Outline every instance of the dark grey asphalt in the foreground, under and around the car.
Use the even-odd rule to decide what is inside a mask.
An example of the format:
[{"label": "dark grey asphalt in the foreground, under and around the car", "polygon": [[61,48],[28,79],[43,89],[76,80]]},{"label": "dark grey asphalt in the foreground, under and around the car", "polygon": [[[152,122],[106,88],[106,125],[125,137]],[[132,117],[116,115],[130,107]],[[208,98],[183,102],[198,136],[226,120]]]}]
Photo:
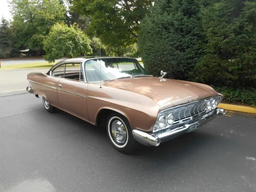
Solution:
[{"label": "dark grey asphalt in the foreground, under and around the car", "polygon": [[0,98],[0,192],[255,192],[256,120],[221,116],[134,155],[42,98]]}]

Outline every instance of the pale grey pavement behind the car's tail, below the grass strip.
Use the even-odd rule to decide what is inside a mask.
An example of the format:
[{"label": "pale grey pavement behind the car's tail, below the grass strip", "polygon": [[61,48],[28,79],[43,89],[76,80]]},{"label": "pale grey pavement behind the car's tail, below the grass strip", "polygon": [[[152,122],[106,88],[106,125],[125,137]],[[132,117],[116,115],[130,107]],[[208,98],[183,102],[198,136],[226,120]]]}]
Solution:
[{"label": "pale grey pavement behind the car's tail, below the grass strip", "polygon": [[28,81],[26,75],[30,72],[47,72],[49,69],[17,69],[0,70],[0,96],[10,95],[10,92],[26,93]]}]

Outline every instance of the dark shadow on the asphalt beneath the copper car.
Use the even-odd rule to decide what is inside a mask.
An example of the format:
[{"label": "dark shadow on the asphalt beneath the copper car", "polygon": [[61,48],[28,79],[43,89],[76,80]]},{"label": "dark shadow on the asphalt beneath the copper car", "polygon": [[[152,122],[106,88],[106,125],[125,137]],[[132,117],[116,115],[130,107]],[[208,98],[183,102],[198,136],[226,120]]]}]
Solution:
[{"label": "dark shadow on the asphalt beneath the copper car", "polygon": [[[81,134],[85,133],[86,135],[90,135],[91,137],[96,138],[99,143],[102,142],[102,144],[107,144],[109,148],[112,148],[112,145],[108,140],[106,128],[94,126],[61,110],[58,110],[58,113],[62,116],[61,118],[72,121],[71,124],[75,125],[73,128],[79,129]],[[199,128],[199,130],[183,134],[168,142],[162,143],[158,147],[146,147],[141,145],[134,153],[129,154],[129,156],[132,156],[133,158],[155,158],[155,160],[161,157],[166,159],[166,157],[169,156],[170,160],[174,160],[174,158],[179,159],[184,158],[184,156],[188,156],[189,154],[194,154],[195,151],[198,151],[202,146],[210,146],[209,143],[214,139],[216,139],[214,135],[209,134],[209,132],[204,132]],[[117,152],[114,148],[112,151],[122,156],[126,156],[125,154]]]}]

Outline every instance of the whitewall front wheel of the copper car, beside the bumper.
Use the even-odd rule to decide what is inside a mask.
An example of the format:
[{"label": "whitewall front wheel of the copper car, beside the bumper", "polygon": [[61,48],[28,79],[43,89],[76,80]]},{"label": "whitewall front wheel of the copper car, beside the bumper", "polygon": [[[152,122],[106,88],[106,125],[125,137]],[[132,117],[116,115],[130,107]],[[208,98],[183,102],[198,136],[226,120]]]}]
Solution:
[{"label": "whitewall front wheel of the copper car, beside the bumper", "polygon": [[130,124],[124,116],[118,113],[110,114],[106,128],[110,142],[119,152],[128,154],[137,148],[138,143],[133,138]]}]

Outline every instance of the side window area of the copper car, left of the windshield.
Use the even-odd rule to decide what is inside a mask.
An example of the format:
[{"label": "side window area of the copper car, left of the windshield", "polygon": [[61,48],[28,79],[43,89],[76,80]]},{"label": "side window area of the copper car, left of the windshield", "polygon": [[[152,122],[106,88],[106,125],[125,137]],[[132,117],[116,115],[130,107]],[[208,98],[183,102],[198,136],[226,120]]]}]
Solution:
[{"label": "side window area of the copper car, left of the windshield", "polygon": [[60,65],[52,71],[52,76],[84,81],[82,64],[80,63],[67,63]]}]

